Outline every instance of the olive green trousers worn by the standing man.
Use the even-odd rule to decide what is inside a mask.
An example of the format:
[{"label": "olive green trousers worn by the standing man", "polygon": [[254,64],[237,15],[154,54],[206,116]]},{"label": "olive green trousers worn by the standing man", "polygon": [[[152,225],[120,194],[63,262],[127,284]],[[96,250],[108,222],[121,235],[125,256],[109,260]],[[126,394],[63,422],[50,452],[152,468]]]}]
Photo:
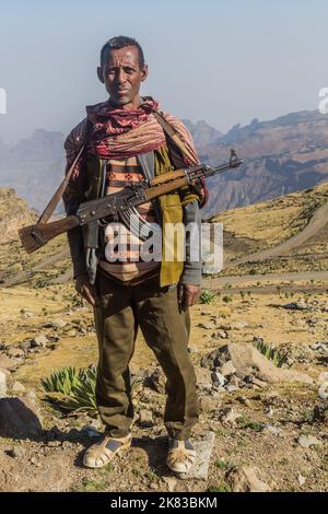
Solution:
[{"label": "olive green trousers worn by the standing man", "polygon": [[129,362],[140,327],[166,376],[164,423],[168,435],[188,439],[198,421],[198,400],[188,354],[190,317],[179,309],[177,287],[160,288],[159,277],[124,285],[99,272],[94,318],[99,350],[96,401],[106,433],[124,437],[130,431]]}]

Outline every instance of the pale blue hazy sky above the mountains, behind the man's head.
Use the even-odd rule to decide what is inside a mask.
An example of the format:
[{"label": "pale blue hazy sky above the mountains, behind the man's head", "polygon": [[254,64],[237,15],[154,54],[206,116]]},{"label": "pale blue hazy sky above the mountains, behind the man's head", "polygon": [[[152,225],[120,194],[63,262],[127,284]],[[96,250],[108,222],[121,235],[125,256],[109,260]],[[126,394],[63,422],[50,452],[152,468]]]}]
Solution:
[{"label": "pale blue hazy sky above the mountains, behind the man's head", "polygon": [[[136,37],[142,93],[222,131],[318,106],[328,86],[327,0],[0,0],[0,139],[69,131],[106,98],[102,45]],[[1,110],[1,108],[0,108]]]}]

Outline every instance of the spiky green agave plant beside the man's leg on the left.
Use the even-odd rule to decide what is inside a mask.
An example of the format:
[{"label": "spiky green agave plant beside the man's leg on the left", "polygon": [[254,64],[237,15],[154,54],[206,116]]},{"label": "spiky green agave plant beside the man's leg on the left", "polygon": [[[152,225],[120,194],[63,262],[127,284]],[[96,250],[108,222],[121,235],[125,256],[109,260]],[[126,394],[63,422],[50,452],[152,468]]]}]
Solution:
[{"label": "spiky green agave plant beside the man's leg on the left", "polygon": [[97,411],[95,400],[96,367],[63,367],[40,381],[48,393],[46,400],[61,412]]}]

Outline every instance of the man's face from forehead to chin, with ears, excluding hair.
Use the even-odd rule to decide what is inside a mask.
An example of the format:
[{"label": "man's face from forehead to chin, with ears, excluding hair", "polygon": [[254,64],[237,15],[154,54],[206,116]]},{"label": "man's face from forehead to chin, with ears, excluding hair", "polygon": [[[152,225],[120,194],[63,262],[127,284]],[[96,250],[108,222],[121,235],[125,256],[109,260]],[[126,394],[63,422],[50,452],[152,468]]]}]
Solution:
[{"label": "man's face from forehead to chin, with ears, excluding hair", "polygon": [[147,79],[148,67],[140,69],[136,46],[110,50],[97,69],[98,79],[105,84],[110,102],[118,107],[138,107],[140,84]]}]

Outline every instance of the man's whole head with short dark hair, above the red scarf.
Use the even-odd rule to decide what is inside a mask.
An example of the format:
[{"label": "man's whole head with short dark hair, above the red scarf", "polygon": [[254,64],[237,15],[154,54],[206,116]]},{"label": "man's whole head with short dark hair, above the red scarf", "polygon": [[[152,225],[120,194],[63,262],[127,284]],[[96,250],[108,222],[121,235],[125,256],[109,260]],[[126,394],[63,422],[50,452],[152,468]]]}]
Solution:
[{"label": "man's whole head with short dark hair, above the red scarf", "polygon": [[148,67],[141,46],[131,37],[113,37],[102,48],[99,81],[105,84],[110,102],[117,107],[136,108],[140,103],[140,84]]}]

